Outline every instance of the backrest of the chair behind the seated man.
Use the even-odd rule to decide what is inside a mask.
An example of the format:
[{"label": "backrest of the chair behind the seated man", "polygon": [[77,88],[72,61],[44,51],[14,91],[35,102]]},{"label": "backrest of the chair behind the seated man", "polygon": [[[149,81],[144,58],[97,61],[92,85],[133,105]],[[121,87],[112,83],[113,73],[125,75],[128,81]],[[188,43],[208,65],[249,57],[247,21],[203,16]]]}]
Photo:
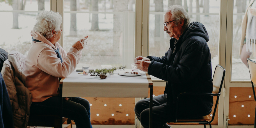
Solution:
[{"label": "backrest of the chair behind the seated man", "polygon": [[221,65],[216,65],[212,78],[212,90],[214,93],[220,93],[224,81],[226,70]]}]

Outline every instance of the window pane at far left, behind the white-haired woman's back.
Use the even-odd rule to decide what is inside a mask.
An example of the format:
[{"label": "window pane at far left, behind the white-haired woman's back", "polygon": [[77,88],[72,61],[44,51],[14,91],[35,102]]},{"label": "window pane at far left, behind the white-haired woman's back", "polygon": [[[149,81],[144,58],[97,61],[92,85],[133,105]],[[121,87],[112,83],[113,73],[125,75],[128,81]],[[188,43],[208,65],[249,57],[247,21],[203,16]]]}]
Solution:
[{"label": "window pane at far left, behind the white-haired woman's back", "polygon": [[[13,0],[12,2],[12,5],[8,1],[0,2],[0,17],[2,17],[0,48],[7,52],[15,50],[26,55],[31,46],[30,31],[35,24],[38,10],[50,10],[50,1],[23,1],[22,3],[19,0]],[[38,2],[41,3],[38,4]]]}]

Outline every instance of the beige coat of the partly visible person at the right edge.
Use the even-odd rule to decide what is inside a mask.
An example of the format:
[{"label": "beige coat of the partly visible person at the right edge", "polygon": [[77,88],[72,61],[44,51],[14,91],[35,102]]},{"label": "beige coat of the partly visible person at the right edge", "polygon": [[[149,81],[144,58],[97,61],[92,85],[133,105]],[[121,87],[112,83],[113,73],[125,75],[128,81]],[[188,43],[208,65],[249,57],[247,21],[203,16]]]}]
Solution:
[{"label": "beige coat of the partly visible person at the right edge", "polygon": [[[249,5],[248,5],[248,8],[253,4],[253,0],[250,1]],[[241,42],[240,42],[240,51],[239,51],[239,55],[241,55],[241,51],[242,51],[242,48],[243,48],[243,42],[244,42],[244,39],[245,39],[245,35],[246,35],[246,26],[247,26],[247,11],[248,11],[248,8],[246,9],[245,11],[245,15],[243,17],[243,21],[242,21],[242,37],[241,37]],[[253,13],[251,13],[253,16],[256,16],[256,8],[254,8],[253,10]],[[253,50],[253,56],[256,56],[256,52]]]}]

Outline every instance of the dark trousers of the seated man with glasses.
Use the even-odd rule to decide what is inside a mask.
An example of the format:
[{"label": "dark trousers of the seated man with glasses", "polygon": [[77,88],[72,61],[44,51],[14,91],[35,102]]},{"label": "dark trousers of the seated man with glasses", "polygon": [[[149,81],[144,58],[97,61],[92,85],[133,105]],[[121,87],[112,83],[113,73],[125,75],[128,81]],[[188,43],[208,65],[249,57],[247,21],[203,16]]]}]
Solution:
[{"label": "dark trousers of the seated man with glasses", "polygon": [[[167,122],[166,94],[153,97],[153,128],[162,128]],[[134,112],[144,128],[149,128],[150,98],[142,99],[135,105]]]}]

